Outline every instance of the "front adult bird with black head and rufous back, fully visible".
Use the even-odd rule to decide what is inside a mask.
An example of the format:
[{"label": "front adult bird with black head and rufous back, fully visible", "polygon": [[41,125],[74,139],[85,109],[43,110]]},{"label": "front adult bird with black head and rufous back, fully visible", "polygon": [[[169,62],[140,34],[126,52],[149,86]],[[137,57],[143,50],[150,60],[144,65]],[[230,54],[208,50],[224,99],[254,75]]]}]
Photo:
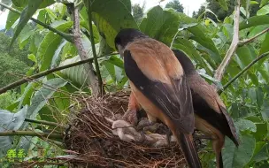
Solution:
[{"label": "front adult bird with black head and rufous back, fully visible", "polygon": [[158,118],[165,123],[177,138],[188,166],[201,167],[192,137],[195,120],[191,92],[173,51],[132,28],[117,34],[115,47],[124,57],[132,93],[150,122]]}]

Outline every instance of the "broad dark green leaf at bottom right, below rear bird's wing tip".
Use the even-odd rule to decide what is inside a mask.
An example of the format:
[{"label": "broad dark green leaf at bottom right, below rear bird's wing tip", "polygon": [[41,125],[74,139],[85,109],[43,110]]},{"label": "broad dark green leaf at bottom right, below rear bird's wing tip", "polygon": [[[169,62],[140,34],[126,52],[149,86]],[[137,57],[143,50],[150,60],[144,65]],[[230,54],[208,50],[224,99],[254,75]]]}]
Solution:
[{"label": "broad dark green leaf at bottom right, below rear bird's wing tip", "polygon": [[236,148],[234,142],[226,137],[225,149],[222,150],[224,167],[242,168],[250,162],[255,150],[255,138],[249,134],[243,134],[240,140],[241,143]]}]

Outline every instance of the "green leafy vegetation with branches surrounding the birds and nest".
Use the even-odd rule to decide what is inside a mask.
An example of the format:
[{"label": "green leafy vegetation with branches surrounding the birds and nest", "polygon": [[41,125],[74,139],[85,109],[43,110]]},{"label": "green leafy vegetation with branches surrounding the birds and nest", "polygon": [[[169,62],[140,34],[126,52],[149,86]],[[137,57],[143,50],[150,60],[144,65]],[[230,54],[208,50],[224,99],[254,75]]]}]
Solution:
[{"label": "green leafy vegetation with branches surrounding the birds and nest", "polygon": [[[25,159],[37,163],[65,155],[61,138],[41,134],[68,124],[70,109],[78,105],[73,96],[127,87],[114,37],[120,28],[134,27],[186,52],[219,88],[242,142],[237,149],[226,139],[225,167],[269,166],[268,0],[207,0],[194,18],[177,1],[150,11],[129,0],[72,2],[1,1],[2,10],[10,10],[5,31],[12,31],[12,39],[0,34],[0,157],[9,149],[25,149]],[[81,60],[84,65],[72,65]],[[64,65],[69,68],[58,71]],[[223,76],[215,74],[218,67],[227,67]],[[200,157],[205,167],[214,167],[210,143]]]}]

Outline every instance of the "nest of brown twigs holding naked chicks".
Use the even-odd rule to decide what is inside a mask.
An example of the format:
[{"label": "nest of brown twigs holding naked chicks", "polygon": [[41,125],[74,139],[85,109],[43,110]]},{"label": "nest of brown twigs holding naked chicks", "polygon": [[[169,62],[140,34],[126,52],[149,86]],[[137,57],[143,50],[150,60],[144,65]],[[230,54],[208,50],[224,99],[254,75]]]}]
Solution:
[{"label": "nest of brown twigs holding naked chicks", "polygon": [[[121,91],[83,99],[83,110],[73,117],[65,135],[65,146],[74,154],[69,163],[83,167],[183,167],[186,163],[176,142],[167,146],[165,134],[142,136],[121,120],[128,96],[129,92]],[[116,129],[118,124],[123,127]]]}]

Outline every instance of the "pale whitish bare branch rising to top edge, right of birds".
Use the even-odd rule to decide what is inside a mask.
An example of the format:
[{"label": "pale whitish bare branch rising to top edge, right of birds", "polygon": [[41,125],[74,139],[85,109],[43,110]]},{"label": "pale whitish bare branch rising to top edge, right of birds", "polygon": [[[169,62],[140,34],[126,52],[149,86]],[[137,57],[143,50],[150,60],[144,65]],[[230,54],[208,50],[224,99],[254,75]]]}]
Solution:
[{"label": "pale whitish bare branch rising to top edge, right of birds", "polygon": [[219,65],[214,78],[216,80],[221,80],[223,74],[227,69],[227,65],[229,64],[232,56],[234,55],[235,50],[237,49],[238,42],[239,42],[239,21],[240,21],[240,0],[236,0],[234,6],[234,36],[233,41],[230,45],[230,48],[227,50],[227,54],[222,60],[221,64]]}]

